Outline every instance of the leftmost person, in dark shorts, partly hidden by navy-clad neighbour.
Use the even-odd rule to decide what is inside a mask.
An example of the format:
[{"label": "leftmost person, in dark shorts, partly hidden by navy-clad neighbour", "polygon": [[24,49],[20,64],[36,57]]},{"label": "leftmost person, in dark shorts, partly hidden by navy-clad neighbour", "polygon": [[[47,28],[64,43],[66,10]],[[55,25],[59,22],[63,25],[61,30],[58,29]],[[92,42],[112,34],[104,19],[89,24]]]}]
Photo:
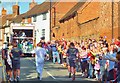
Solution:
[{"label": "leftmost person, in dark shorts, partly hidden by navy-clad neighbour", "polygon": [[[12,66],[11,63],[8,63],[8,48],[6,45],[3,45],[2,48],[2,59],[4,60],[5,66],[6,66],[6,74],[7,74],[7,80],[12,81]],[[9,58],[10,59],[10,58]]]}]

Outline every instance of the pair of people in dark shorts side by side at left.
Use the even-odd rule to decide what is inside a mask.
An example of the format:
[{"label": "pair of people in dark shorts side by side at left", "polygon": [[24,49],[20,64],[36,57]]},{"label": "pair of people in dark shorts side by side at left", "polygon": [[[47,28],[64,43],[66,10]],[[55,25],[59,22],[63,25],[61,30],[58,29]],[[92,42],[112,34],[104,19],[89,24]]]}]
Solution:
[{"label": "pair of people in dark shorts side by side at left", "polygon": [[[2,59],[5,63],[6,68],[6,80],[18,82],[20,79],[20,57],[24,56],[21,49],[18,48],[16,40],[12,42],[12,49],[9,50],[7,45],[3,45],[2,48]],[[12,76],[13,75],[13,76]]]}]

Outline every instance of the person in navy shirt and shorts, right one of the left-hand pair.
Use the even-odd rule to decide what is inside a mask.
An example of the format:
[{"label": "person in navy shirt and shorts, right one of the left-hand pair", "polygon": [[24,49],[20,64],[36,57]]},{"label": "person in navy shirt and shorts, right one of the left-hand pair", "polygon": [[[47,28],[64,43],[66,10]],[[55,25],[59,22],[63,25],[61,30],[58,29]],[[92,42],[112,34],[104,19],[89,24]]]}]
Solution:
[{"label": "person in navy shirt and shorts, right one of the left-hand pair", "polygon": [[14,40],[12,42],[13,48],[10,52],[10,57],[12,59],[13,77],[14,81],[19,81],[20,79],[20,56],[23,56],[22,50],[17,47],[17,42]]}]

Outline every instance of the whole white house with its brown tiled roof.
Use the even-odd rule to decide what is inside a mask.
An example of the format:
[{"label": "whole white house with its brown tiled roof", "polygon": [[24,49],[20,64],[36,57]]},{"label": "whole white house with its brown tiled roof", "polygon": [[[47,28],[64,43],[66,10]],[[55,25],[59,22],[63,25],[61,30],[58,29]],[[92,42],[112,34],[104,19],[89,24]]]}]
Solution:
[{"label": "whole white house with its brown tiled roof", "polygon": [[[51,3],[51,6],[54,3]],[[50,41],[50,2],[34,6],[24,16],[25,22],[31,18],[31,22],[35,24],[36,44],[41,37],[45,37],[45,41]]]}]

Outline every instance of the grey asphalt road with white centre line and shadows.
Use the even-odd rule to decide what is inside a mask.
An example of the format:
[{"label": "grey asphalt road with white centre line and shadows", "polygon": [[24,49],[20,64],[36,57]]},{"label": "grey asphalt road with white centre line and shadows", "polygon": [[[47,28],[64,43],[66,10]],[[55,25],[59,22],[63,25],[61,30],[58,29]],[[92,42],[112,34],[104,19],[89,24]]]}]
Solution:
[{"label": "grey asphalt road with white centre line and shadows", "polygon": [[[46,61],[43,70],[42,82],[71,82],[72,79],[68,78],[68,72],[66,68],[63,68],[60,64],[53,64],[51,61]],[[21,82],[39,82],[37,79],[36,67],[34,57],[21,58]],[[97,83],[94,79],[87,79],[80,77],[80,72],[76,74],[75,82],[80,83]]]}]

